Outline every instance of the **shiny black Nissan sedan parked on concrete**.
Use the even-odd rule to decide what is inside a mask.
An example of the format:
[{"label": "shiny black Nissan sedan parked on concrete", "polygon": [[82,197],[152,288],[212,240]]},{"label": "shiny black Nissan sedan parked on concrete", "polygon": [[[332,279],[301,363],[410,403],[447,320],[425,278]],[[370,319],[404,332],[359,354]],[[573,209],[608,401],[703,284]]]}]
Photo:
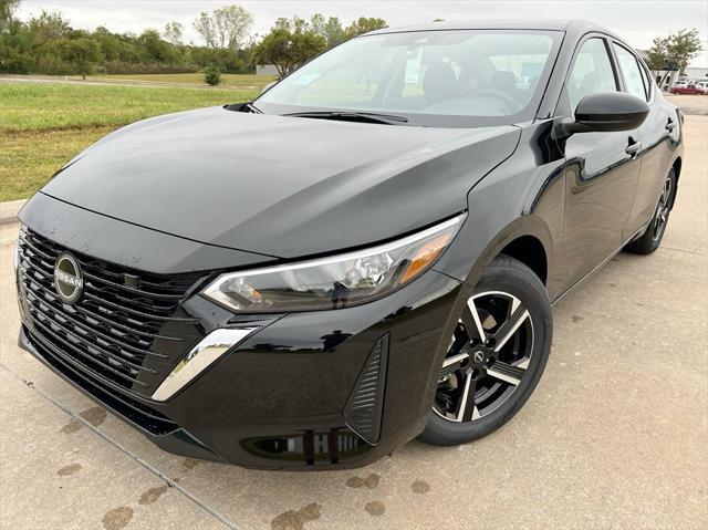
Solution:
[{"label": "shiny black Nissan sedan parked on concrete", "polygon": [[659,246],[681,158],[680,113],[602,28],[376,31],[63,167],[20,215],[20,345],[181,455],[464,444],[533,392],[551,305]]}]

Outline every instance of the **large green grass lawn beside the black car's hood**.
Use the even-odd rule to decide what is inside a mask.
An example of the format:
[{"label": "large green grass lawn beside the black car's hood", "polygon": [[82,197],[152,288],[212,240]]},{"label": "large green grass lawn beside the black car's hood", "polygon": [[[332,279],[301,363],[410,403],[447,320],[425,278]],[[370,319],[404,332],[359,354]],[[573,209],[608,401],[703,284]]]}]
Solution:
[{"label": "large green grass lawn beside the black car's hood", "polygon": [[30,197],[64,163],[122,125],[248,101],[258,92],[0,84],[0,201]]}]

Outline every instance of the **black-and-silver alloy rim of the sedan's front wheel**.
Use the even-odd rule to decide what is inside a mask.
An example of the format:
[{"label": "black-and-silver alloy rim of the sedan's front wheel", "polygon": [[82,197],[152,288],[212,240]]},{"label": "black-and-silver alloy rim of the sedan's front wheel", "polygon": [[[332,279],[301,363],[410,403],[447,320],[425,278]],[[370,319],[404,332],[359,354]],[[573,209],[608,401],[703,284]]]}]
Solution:
[{"label": "black-and-silver alloy rim of the sedan's front wheel", "polygon": [[449,422],[493,413],[519,387],[533,351],[533,322],[513,294],[487,291],[467,301],[442,362],[434,412]]}]

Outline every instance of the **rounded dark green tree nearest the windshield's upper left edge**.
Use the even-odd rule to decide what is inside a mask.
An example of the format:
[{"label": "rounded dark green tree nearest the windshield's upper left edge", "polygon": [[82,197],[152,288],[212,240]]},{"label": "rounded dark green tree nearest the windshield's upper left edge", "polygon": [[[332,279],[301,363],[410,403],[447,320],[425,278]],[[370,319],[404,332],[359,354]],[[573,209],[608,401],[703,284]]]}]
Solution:
[{"label": "rounded dark green tree nearest the windshield's upper left edge", "polygon": [[309,29],[302,19],[279,19],[261,42],[253,48],[254,64],[273,64],[281,77],[327,46],[324,37]]}]

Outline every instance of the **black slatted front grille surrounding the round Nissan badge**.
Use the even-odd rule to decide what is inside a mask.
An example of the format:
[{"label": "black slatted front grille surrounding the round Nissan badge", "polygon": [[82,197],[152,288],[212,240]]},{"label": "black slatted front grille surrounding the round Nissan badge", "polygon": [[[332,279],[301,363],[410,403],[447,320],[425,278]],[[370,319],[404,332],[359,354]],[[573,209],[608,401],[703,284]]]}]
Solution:
[{"label": "black slatted front grille surrounding the round Nissan badge", "polygon": [[25,227],[18,248],[27,324],[74,370],[150,395],[198,337],[196,320],[178,308],[202,273],[144,273],[72,250],[83,294],[66,304],[55,290],[54,264],[67,249]]}]

